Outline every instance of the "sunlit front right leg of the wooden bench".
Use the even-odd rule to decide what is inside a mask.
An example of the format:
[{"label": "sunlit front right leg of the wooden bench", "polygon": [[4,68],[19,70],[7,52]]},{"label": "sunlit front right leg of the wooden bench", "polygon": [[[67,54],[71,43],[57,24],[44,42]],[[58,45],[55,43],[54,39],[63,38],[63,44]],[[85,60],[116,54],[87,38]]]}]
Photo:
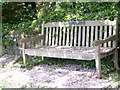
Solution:
[{"label": "sunlit front right leg of the wooden bench", "polygon": [[96,49],[95,63],[96,63],[97,78],[101,78],[102,71],[101,71],[100,47],[97,47],[97,49]]}]

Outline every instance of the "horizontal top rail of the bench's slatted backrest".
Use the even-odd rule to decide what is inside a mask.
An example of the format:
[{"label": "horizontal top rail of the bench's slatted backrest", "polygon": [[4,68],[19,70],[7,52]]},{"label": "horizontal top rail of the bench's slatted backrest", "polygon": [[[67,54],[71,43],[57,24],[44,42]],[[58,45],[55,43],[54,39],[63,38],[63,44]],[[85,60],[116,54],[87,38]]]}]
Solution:
[{"label": "horizontal top rail of the bench's slatted backrest", "polygon": [[100,20],[100,21],[69,21],[69,22],[48,22],[45,27],[68,27],[68,26],[100,26],[100,25],[115,25],[114,21]]}]

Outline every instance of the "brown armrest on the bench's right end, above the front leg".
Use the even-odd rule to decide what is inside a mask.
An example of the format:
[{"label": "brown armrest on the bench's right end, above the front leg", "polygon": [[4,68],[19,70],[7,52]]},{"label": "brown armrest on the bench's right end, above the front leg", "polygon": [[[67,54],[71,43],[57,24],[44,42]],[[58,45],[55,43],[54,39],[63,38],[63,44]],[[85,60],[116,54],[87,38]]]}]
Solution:
[{"label": "brown armrest on the bench's right end, above the front leg", "polygon": [[111,35],[110,37],[107,37],[106,39],[102,39],[102,40],[95,40],[93,41],[92,45],[93,46],[98,46],[100,44],[109,42],[109,41],[114,41],[116,39],[116,35]]}]

